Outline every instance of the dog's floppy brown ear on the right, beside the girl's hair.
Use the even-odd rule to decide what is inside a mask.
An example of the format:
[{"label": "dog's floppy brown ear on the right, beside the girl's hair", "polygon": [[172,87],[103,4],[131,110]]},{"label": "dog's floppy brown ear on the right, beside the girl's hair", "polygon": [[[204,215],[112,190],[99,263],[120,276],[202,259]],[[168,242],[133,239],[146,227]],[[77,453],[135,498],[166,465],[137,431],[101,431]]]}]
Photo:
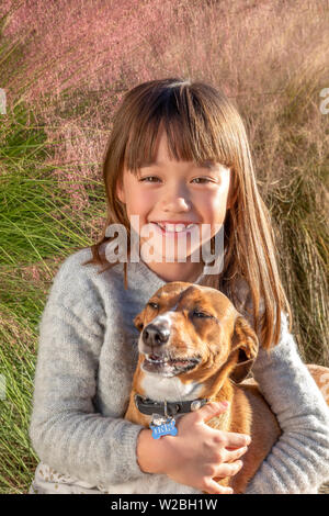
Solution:
[{"label": "dog's floppy brown ear on the right, beside the girl's hair", "polygon": [[230,379],[235,383],[240,383],[248,377],[259,349],[257,335],[242,316],[236,318],[231,349],[238,350],[238,361],[230,373]]}]

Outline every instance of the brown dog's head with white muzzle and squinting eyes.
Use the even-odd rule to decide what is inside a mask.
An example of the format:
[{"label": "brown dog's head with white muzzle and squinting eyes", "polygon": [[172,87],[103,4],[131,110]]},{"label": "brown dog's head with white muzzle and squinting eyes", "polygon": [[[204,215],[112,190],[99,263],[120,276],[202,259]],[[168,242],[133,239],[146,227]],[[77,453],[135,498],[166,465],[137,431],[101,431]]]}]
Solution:
[{"label": "brown dog's head with white muzzle and squinting eyes", "polygon": [[220,371],[242,381],[258,354],[250,324],[216,289],[167,283],[135,317],[144,371],[204,381]]}]

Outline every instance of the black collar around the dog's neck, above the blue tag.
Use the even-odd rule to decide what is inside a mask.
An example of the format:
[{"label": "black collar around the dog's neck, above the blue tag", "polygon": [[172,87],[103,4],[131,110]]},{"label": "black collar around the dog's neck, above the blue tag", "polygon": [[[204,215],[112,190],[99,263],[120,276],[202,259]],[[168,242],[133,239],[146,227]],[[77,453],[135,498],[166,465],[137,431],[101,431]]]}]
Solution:
[{"label": "black collar around the dog's neck, above the blue tag", "polygon": [[[167,415],[174,416],[175,414],[186,414],[188,412],[196,411],[208,401],[208,399],[204,397],[188,402],[167,402]],[[152,414],[160,414],[161,416],[166,416],[164,403],[155,402],[149,397],[143,397],[139,394],[135,394],[135,405],[143,414],[148,414],[150,416]]]}]

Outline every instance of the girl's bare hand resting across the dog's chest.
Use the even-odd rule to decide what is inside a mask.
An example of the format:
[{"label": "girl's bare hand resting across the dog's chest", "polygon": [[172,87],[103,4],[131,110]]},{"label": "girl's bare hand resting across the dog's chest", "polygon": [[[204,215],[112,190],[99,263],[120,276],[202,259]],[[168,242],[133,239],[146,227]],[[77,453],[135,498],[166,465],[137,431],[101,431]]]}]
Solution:
[{"label": "girl's bare hand resting across the dog's chest", "polygon": [[232,476],[242,467],[238,460],[248,449],[250,437],[222,431],[205,422],[223,414],[227,406],[212,402],[177,422],[178,435],[161,437],[163,445],[163,473],[184,485],[209,494],[231,494],[230,487],[214,479]]}]

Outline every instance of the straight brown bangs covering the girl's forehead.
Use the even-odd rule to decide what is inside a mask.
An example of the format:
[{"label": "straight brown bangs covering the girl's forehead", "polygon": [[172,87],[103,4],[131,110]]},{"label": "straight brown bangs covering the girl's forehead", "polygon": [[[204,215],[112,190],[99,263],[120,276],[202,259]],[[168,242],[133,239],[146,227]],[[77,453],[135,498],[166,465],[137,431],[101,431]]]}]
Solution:
[{"label": "straight brown bangs covering the girl's forehead", "polygon": [[218,116],[214,123],[202,96],[197,96],[189,82],[175,82],[170,89],[157,93],[151,98],[147,96],[136,111],[125,149],[128,170],[136,175],[141,167],[156,162],[162,131],[167,135],[168,154],[173,160],[232,165],[235,159],[227,153],[229,142],[226,132],[218,128]]}]

